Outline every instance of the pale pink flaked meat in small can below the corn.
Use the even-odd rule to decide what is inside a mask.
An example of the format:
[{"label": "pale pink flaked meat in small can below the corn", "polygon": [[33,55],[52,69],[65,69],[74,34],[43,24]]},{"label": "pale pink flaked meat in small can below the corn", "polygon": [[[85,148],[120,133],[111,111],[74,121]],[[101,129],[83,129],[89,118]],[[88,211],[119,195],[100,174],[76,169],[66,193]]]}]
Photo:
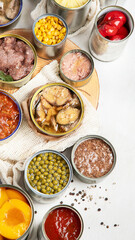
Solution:
[{"label": "pale pink flaked meat in small can below the corn", "polygon": [[61,69],[67,78],[79,81],[88,77],[92,67],[89,58],[85,54],[71,52],[63,58]]}]

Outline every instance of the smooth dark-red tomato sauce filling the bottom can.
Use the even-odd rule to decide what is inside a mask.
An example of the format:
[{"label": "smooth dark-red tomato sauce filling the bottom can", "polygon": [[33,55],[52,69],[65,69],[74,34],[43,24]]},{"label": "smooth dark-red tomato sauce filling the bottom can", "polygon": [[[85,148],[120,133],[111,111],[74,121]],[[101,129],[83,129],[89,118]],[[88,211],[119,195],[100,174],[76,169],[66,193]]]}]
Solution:
[{"label": "smooth dark-red tomato sauce filling the bottom can", "polygon": [[77,240],[81,221],[73,210],[61,207],[49,213],[44,227],[50,240]]}]

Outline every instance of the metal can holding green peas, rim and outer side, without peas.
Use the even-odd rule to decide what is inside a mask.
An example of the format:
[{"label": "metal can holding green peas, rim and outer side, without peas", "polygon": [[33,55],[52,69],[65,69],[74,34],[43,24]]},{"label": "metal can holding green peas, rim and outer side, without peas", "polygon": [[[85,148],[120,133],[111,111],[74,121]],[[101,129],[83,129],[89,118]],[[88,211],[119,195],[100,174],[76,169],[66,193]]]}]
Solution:
[{"label": "metal can holding green peas, rim and outer side, without peas", "polygon": [[[28,165],[29,163],[31,162],[31,160],[36,157],[37,155],[41,154],[41,153],[46,153],[46,152],[51,152],[51,153],[55,153],[59,156],[61,156],[65,162],[67,163],[68,167],[69,167],[69,180],[68,180],[68,183],[67,185],[58,193],[55,193],[55,194],[51,194],[51,195],[48,195],[48,194],[44,194],[44,193],[41,193],[39,191],[37,191],[36,189],[34,189],[29,181],[28,181],[28,178],[27,178],[27,169],[28,169]],[[55,150],[42,150],[40,152],[37,152],[35,153],[26,163],[26,166],[25,166],[25,170],[24,170],[24,185],[25,185],[25,188],[26,188],[26,191],[30,194],[30,196],[35,200],[37,201],[38,203],[50,203],[50,202],[53,202],[55,199],[58,199],[59,197],[61,197],[63,195],[63,193],[65,192],[65,190],[67,189],[67,187],[69,186],[71,180],[72,180],[72,177],[73,177],[73,171],[72,171],[72,166],[71,166],[71,163],[70,161],[68,160],[68,158],[63,155],[62,153],[60,152],[57,152]]]}]

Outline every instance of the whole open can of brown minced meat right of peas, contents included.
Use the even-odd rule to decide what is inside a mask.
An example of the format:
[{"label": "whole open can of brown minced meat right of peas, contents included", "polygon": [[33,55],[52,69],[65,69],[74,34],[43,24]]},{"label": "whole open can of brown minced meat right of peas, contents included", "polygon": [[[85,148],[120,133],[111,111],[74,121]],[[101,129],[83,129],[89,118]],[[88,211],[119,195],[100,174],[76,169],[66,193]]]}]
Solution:
[{"label": "whole open can of brown minced meat right of peas, contents included", "polygon": [[76,142],[71,161],[75,174],[82,182],[97,183],[112,172],[116,152],[107,139],[90,135]]}]

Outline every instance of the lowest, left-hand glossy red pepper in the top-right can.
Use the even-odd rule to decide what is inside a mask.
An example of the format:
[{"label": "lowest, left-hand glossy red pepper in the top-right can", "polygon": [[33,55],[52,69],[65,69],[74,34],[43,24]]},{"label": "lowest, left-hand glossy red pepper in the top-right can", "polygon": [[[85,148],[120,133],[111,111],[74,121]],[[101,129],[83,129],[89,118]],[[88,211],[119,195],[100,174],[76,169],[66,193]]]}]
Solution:
[{"label": "lowest, left-hand glossy red pepper in the top-right can", "polygon": [[116,35],[118,29],[114,26],[110,26],[109,24],[104,23],[98,28],[100,34],[103,37],[111,37]]}]

